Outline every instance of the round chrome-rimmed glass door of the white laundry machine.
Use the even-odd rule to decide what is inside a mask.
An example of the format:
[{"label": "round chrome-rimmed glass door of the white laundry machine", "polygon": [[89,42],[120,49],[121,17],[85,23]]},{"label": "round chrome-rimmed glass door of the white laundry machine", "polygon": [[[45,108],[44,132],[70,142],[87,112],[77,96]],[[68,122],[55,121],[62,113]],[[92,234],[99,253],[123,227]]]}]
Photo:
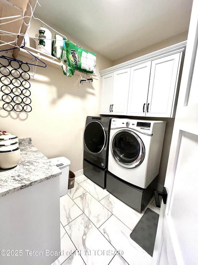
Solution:
[{"label": "round chrome-rimmed glass door of the white laundry machine", "polygon": [[111,153],[119,165],[131,168],[143,162],[145,148],[136,133],[130,130],[120,130],[111,140]]}]

